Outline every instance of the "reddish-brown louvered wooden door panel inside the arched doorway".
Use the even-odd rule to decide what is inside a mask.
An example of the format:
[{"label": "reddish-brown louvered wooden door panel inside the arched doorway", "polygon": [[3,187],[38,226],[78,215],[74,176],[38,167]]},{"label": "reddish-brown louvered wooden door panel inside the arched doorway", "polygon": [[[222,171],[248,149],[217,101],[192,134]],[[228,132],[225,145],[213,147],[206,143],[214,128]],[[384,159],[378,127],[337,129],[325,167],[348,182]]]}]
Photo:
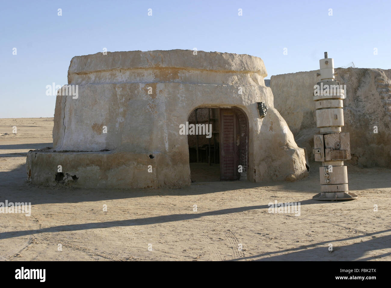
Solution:
[{"label": "reddish-brown louvered wooden door panel inside the arched doorway", "polygon": [[220,109],[220,180],[237,180],[239,119],[231,109]]}]

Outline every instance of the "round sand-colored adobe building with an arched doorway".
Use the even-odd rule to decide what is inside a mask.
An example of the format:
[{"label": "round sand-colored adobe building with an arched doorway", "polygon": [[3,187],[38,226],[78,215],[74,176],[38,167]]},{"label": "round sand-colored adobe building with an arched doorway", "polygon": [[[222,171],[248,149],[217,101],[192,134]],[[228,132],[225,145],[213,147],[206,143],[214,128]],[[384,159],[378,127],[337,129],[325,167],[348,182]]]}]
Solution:
[{"label": "round sand-colored adobe building with an arched doorway", "polygon": [[[246,54],[76,56],[68,85],[77,87],[77,96],[57,94],[54,147],[29,152],[28,179],[84,188],[158,188],[212,176],[253,182],[302,178],[308,173],[304,150],[274,109],[265,76],[262,59]],[[189,135],[196,124],[201,135]]]}]

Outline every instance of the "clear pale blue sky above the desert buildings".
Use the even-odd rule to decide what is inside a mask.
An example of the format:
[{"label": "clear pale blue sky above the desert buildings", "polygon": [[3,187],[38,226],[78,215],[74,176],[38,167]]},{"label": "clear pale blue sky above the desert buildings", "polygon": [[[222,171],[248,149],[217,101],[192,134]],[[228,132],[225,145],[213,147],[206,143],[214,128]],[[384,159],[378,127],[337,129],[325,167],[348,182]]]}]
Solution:
[{"label": "clear pale blue sky above the desert buildings", "polygon": [[2,1],[0,118],[53,117],[46,86],[103,48],[249,54],[266,79],[317,70],[324,51],[335,67],[391,69],[390,13],[391,0]]}]

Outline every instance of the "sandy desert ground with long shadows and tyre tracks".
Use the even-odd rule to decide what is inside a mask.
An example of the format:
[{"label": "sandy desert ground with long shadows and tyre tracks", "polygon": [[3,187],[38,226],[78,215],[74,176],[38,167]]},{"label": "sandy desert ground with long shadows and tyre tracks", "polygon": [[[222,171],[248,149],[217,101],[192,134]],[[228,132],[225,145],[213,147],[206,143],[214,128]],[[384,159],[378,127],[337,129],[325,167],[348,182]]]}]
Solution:
[{"label": "sandy desert ground with long shadows and tyre tracks", "polygon": [[[319,163],[294,183],[34,187],[26,183],[26,154],[52,145],[52,127],[53,118],[0,119],[0,202],[32,204],[31,216],[0,214],[2,260],[391,260],[389,169],[348,167],[359,198],[341,202],[311,199]],[[274,200],[300,202],[300,216],[268,213]]]}]

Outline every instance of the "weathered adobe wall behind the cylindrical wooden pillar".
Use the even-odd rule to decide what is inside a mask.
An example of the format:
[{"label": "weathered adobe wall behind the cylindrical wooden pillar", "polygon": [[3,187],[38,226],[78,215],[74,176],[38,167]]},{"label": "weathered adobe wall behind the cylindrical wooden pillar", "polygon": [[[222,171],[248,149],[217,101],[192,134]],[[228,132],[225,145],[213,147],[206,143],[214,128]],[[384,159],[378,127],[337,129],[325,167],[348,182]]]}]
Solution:
[{"label": "weathered adobe wall behind the cylindrical wooden pillar", "polygon": [[[314,155],[316,128],[314,85],[319,70],[271,76],[274,107],[287,121],[296,143]],[[391,167],[391,69],[336,68],[336,80],[346,85],[344,127],[350,133],[352,160],[360,167]],[[374,133],[374,126],[378,133]]]}]

